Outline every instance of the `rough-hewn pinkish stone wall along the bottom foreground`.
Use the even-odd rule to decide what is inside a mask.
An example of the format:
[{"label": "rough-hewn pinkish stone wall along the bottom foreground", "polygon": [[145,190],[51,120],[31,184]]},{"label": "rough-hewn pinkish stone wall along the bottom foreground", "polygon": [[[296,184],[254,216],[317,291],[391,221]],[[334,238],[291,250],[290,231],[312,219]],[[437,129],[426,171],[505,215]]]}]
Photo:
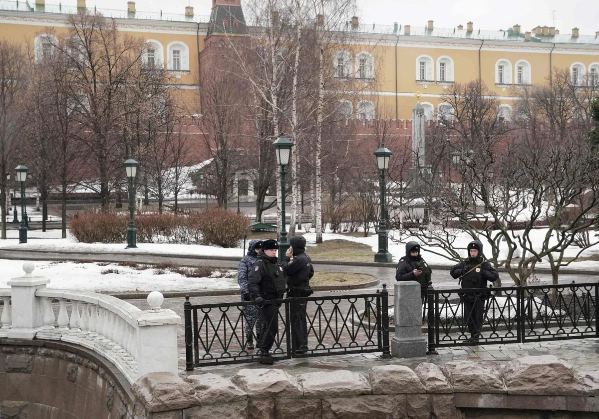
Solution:
[{"label": "rough-hewn pinkish stone wall along the bottom foreground", "polygon": [[[144,419],[400,419],[597,417],[599,371],[555,356],[381,365],[361,374],[241,369],[234,377],[150,373],[132,387]],[[595,401],[597,400],[597,401]],[[141,412],[141,409],[140,409]]]}]

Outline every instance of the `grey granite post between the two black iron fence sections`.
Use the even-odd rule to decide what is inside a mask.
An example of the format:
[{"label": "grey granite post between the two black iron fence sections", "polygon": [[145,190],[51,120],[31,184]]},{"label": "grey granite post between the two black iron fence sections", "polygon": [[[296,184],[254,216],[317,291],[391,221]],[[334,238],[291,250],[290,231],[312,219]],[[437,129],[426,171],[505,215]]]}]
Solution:
[{"label": "grey granite post between the two black iron fence sections", "polygon": [[426,339],[422,336],[422,300],[416,281],[395,283],[395,336],[391,339],[391,354],[396,358],[426,355]]}]

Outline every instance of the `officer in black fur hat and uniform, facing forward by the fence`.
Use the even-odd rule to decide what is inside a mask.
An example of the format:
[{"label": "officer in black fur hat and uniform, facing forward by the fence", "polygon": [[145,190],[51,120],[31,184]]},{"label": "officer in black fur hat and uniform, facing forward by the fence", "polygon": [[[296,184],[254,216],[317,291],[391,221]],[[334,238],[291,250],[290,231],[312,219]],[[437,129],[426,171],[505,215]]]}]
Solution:
[{"label": "officer in black fur hat and uniform, facing forward by the fence", "polygon": [[281,305],[269,301],[280,300],[285,294],[283,269],[277,263],[278,249],[279,243],[276,240],[268,239],[262,242],[262,248],[247,283],[247,290],[260,309],[262,327],[257,346],[262,355],[260,362],[264,364],[273,363],[273,357],[269,351],[279,333],[279,308]]}]

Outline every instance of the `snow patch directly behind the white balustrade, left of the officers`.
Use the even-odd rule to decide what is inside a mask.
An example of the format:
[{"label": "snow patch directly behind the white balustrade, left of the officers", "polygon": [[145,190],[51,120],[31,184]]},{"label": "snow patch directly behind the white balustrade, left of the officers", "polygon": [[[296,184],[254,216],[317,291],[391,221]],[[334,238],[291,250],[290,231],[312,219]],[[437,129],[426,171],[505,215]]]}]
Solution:
[{"label": "snow patch directly behind the white balustrade, left of the officers", "polygon": [[[23,275],[23,260],[2,260],[0,288],[7,287],[11,278]],[[136,271],[116,264],[99,266],[95,263],[40,262],[35,261],[35,276],[49,278],[48,288],[83,290],[93,292],[126,291],[187,291],[187,290],[238,290],[234,278],[186,278],[170,271],[155,274],[154,269]],[[117,269],[119,274],[104,274],[107,269]],[[215,275],[216,276],[216,275]]]}]

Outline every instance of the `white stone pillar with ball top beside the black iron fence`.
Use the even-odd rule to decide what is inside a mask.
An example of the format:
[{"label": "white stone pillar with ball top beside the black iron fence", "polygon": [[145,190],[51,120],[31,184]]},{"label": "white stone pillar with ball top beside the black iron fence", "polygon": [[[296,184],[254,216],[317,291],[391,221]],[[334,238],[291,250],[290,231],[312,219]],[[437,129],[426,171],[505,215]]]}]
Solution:
[{"label": "white stone pillar with ball top beside the black iron fence", "polygon": [[177,362],[177,323],[179,315],[171,309],[161,309],[164,297],[159,292],[149,294],[152,309],[141,313],[138,320],[134,353],[137,360],[137,377],[148,372],[179,374]]}]

